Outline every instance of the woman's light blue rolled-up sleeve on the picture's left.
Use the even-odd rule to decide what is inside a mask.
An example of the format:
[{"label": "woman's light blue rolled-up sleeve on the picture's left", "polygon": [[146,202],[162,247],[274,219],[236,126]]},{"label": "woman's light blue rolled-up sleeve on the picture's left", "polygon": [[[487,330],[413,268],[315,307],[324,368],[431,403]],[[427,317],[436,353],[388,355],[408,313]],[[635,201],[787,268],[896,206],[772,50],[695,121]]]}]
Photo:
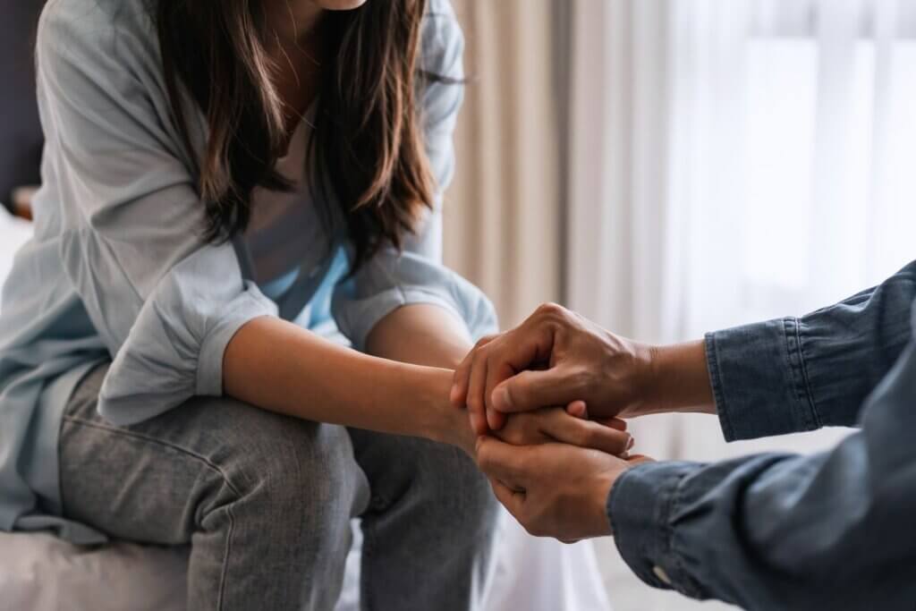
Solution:
[{"label": "woman's light blue rolled-up sleeve on the picture's left", "polygon": [[[61,197],[60,256],[113,364],[99,410],[147,420],[223,392],[234,333],[275,304],[231,244],[202,239],[204,207],[167,113],[155,53],[102,9],[45,12],[38,93]],[[85,13],[85,11],[82,11]]]}]

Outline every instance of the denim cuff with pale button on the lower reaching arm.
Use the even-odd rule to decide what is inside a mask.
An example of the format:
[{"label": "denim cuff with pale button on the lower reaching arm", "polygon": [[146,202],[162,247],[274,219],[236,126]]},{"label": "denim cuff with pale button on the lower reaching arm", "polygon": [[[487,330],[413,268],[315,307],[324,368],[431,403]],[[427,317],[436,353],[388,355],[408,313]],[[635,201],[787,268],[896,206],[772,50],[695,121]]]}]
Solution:
[{"label": "denim cuff with pale button on the lower reaching arm", "polygon": [[621,475],[607,496],[617,550],[633,573],[653,587],[693,598],[700,596],[700,588],[671,549],[671,515],[684,478],[701,468],[692,463],[639,464]]}]

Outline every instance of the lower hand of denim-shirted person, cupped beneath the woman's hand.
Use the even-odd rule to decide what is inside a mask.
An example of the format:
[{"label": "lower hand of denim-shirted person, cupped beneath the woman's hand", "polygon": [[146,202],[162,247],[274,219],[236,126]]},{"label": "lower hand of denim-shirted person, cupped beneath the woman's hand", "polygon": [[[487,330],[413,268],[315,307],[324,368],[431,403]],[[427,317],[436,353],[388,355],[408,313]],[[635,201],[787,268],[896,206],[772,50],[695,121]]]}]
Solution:
[{"label": "lower hand of denim-shirted person, cupped beneath the woman's hand", "polygon": [[613,534],[606,509],[611,488],[627,469],[649,460],[562,443],[477,440],[477,464],[496,498],[530,534],[566,543]]}]

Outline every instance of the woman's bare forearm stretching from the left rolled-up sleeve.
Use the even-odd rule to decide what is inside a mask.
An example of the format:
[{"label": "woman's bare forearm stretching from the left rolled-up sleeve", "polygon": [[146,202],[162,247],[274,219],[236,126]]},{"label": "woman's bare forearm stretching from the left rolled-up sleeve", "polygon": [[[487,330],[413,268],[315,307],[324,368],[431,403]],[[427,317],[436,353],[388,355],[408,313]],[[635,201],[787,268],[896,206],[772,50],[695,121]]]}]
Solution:
[{"label": "woman's bare forearm stretching from the left rolled-up sleeve", "polygon": [[290,322],[247,323],[226,348],[227,395],[289,416],[470,450],[466,418],[452,409],[452,372],[363,355]]}]

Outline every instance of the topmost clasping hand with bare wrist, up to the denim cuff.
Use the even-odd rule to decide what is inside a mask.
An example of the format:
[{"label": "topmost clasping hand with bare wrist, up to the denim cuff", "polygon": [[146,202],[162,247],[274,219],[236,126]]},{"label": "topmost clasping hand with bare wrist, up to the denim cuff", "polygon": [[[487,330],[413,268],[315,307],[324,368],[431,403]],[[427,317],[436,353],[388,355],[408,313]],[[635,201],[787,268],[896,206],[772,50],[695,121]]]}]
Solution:
[{"label": "topmost clasping hand with bare wrist, up to the denim cuff", "polygon": [[508,413],[576,400],[599,418],[714,411],[703,342],[639,344],[552,304],[478,343],[455,371],[451,398],[479,434],[498,431]]}]

